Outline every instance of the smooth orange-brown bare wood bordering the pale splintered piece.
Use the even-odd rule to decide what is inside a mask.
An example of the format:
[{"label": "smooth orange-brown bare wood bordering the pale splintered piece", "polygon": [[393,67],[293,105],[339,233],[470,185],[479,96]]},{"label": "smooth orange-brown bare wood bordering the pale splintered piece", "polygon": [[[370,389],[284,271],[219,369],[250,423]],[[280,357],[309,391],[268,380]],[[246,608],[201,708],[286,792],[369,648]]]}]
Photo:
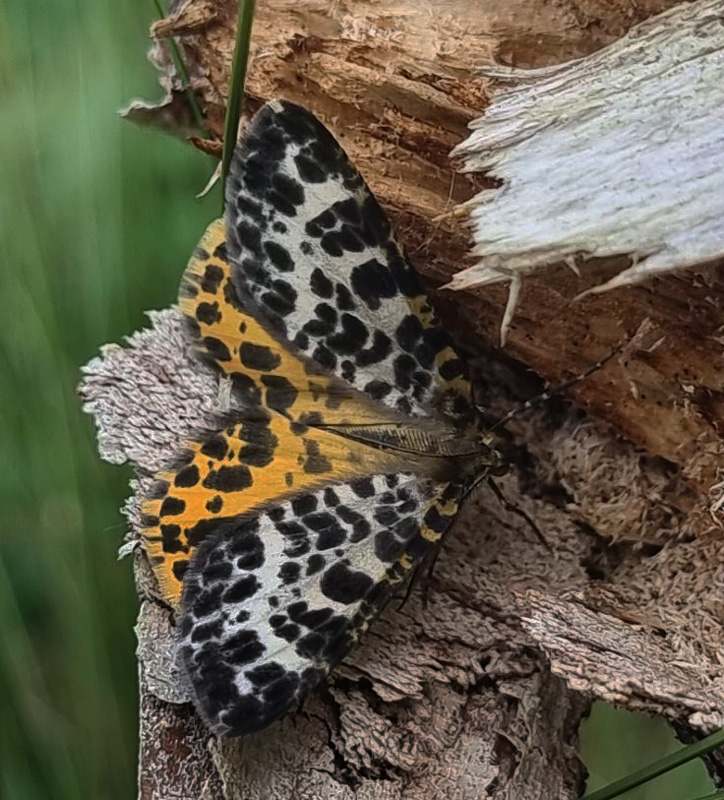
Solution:
[{"label": "smooth orange-brown bare wood bordering the pale splintered piece", "polygon": [[[182,34],[178,41],[193,86],[209,127],[220,135],[235,4],[179,5],[179,17],[172,16],[162,30]],[[488,100],[491,84],[476,77],[474,68],[511,60],[516,67],[540,67],[584,56],[672,5],[491,0],[471,8],[467,0],[391,0],[382,7],[357,0],[268,0],[259,4],[255,23],[248,106],[254,110],[263,100],[282,96],[327,122],[390,211],[430,285],[445,284],[469,264],[472,243],[461,221],[433,220],[496,185],[456,174],[449,159]],[[162,42],[156,61],[168,63]],[[178,88],[173,76],[166,86]],[[169,100],[174,101],[177,95]],[[506,352],[561,383],[648,320],[646,347],[631,353],[625,365],[612,364],[576,386],[571,395],[621,435],[677,465],[691,487],[706,492],[717,480],[722,457],[721,270],[666,275],[573,302],[630,261],[604,258],[595,266],[595,273],[580,279],[562,265],[527,279]],[[463,335],[497,341],[505,286],[452,299],[446,291],[442,299],[454,309],[455,327]]]}]

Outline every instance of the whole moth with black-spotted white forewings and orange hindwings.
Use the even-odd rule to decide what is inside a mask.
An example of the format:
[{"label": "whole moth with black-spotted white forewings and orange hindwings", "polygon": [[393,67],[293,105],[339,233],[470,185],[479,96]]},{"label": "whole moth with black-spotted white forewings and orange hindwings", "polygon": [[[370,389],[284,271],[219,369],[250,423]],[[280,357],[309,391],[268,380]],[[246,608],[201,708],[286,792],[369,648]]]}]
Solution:
[{"label": "whole moth with black-spotted white forewings and orange hindwings", "polygon": [[329,131],[282,101],[238,142],[179,305],[233,413],[143,503],[196,704],[262,730],[350,650],[505,464],[390,222]]}]

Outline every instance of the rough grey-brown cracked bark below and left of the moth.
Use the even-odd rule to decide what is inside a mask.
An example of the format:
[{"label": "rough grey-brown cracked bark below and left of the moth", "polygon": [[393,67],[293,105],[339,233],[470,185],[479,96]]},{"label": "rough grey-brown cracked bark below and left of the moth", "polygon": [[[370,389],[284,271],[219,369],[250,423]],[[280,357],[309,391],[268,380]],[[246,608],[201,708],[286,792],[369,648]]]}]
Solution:
[{"label": "rough grey-brown cracked bark below and left of the moth", "polygon": [[[130,459],[144,473],[155,470],[177,441],[219,410],[223,397],[214,375],[187,348],[178,313],[167,311],[154,315],[154,328],[134,335],[129,347],[107,348],[88,365],[82,394],[107,458]],[[240,743],[212,745],[191,707],[177,705],[187,695],[174,666],[170,618],[158,608],[139,553],[145,598],[139,624],[141,796],[407,800],[475,797],[486,786],[493,797],[573,797],[581,781],[577,725],[587,697],[616,697],[666,713],[691,730],[720,725],[720,606],[712,556],[718,537],[677,545],[690,519],[671,509],[669,530],[656,519],[641,530],[646,492],[663,499],[671,476],[661,464],[642,462],[632,448],[581,425],[573,412],[563,420],[534,419],[520,441],[529,448],[525,460],[547,455],[538,474],[527,476],[540,497],[521,494],[514,478],[504,491],[536,520],[549,547],[482,493],[448,537],[432,584],[403,608],[390,608],[300,712]],[[568,461],[566,487],[548,472],[554,454],[559,463]],[[136,491],[147,481],[140,477]],[[583,503],[552,504],[566,489]],[[599,512],[602,532],[631,533],[636,540],[636,534],[650,534],[649,549],[637,540],[638,549],[624,543],[608,550],[580,527],[578,518],[595,519],[586,512],[589,503],[598,508],[596,491],[611,503],[609,514]],[[137,528],[134,503],[128,514]],[[657,556],[643,555],[659,547]],[[573,622],[567,618],[564,633],[578,650],[569,650],[561,632],[565,614]],[[610,628],[612,615],[626,621],[619,626],[627,636],[606,650],[599,631]],[[655,647],[662,636],[666,646]],[[536,640],[551,655],[553,673]],[[590,661],[591,652],[598,655],[593,663],[579,657]],[[675,683],[669,676],[678,660],[687,668]],[[584,694],[568,691],[555,673],[569,679],[575,673],[575,688]],[[618,676],[617,693],[601,680],[610,675]],[[687,693],[679,692],[681,675]]]}]

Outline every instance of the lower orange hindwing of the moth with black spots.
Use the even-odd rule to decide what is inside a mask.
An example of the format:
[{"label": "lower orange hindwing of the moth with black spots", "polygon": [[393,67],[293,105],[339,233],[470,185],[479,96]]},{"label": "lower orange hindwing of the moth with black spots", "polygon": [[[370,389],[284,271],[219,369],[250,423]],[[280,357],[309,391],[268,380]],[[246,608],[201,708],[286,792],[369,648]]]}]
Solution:
[{"label": "lower orange hindwing of the moth with black spots", "polygon": [[253,409],[229,427],[190,442],[159,473],[143,504],[143,537],[164,599],[178,605],[195,549],[219,519],[284,497],[375,472],[399,470],[397,454]]}]

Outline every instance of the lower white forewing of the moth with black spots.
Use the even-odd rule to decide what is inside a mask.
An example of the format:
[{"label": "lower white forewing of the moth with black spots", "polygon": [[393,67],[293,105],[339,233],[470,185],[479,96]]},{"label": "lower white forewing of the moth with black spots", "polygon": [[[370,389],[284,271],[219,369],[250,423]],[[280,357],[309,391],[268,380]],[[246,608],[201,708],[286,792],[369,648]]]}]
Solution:
[{"label": "lower white forewing of the moth with black spots", "polygon": [[218,520],[184,580],[181,654],[213,730],[281,717],[350,649],[451,519],[444,486],[376,475]]}]

